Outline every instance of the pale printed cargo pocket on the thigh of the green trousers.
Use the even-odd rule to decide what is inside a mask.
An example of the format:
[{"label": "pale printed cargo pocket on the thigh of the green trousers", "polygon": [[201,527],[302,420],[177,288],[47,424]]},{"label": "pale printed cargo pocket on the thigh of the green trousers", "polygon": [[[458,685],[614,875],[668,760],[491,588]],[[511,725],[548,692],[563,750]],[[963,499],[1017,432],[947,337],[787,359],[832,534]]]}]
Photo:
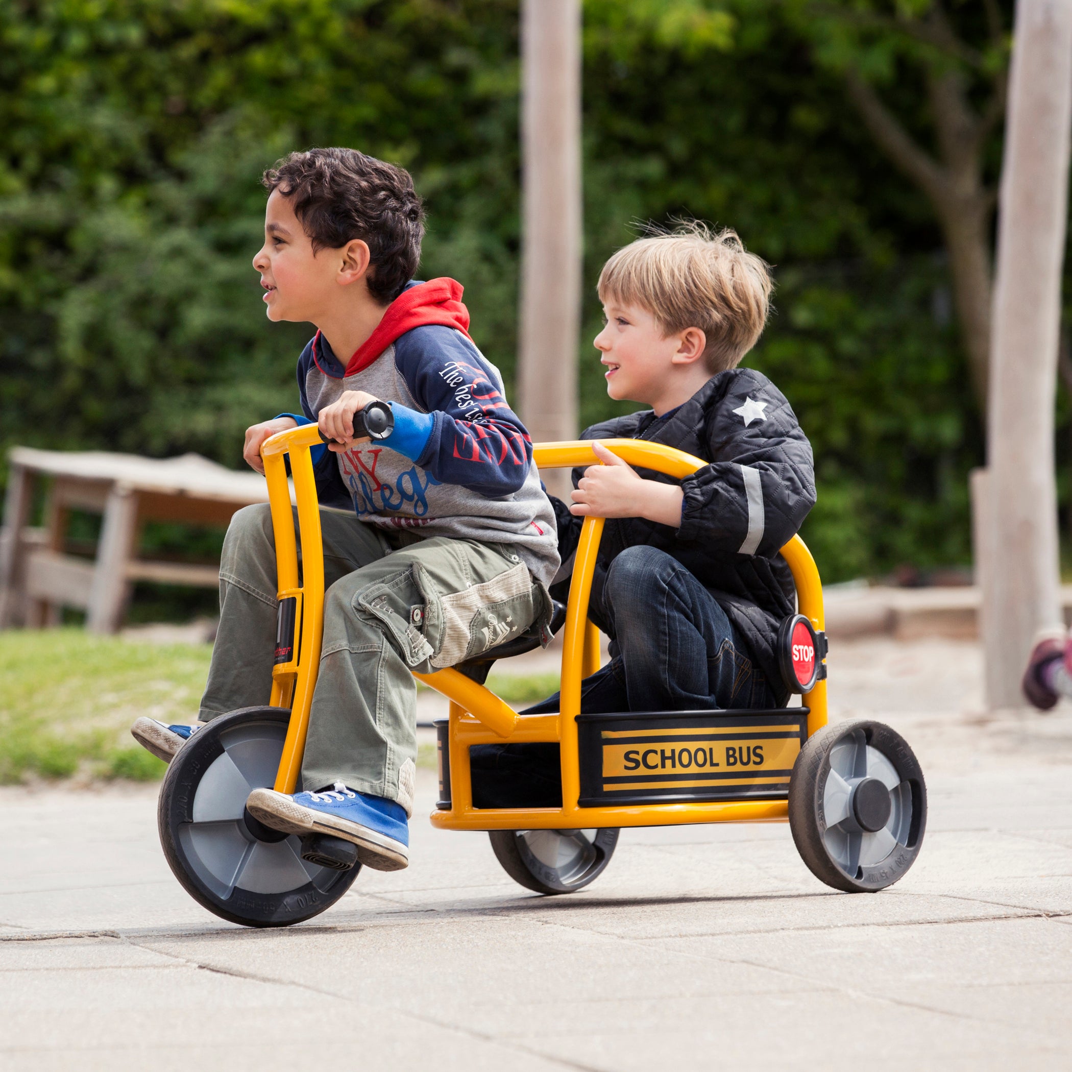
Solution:
[{"label": "pale printed cargo pocket on the thigh of the green trousers", "polygon": [[[420,574],[418,584],[425,580]],[[449,595],[434,592],[429,583],[423,595],[426,636],[434,651],[432,666],[452,667],[512,640],[532,624],[534,593],[538,592],[523,562],[490,581]]]}]

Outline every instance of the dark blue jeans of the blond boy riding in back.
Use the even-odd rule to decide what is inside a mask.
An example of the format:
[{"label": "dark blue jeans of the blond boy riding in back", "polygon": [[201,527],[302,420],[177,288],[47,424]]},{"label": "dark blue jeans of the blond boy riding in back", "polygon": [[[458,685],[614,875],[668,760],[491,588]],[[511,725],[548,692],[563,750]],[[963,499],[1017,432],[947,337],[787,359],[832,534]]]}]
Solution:
[{"label": "dark blue jeans of the blond boy riding in back", "polygon": [[[602,595],[612,658],[581,683],[581,711],[781,705],[715,597],[665,551],[626,548]],[[557,710],[555,693],[526,713]]]}]

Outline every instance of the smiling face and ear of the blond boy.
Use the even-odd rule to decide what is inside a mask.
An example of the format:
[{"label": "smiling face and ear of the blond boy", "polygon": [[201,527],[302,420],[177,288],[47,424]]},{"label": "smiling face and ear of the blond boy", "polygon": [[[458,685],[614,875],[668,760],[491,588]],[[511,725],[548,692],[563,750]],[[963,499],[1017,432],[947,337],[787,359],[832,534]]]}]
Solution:
[{"label": "smiling face and ear of the blond boy", "polygon": [[[607,393],[615,401],[628,399],[632,402],[654,403],[661,398],[667,387],[667,377],[683,362],[682,349],[685,337],[695,334],[703,349],[703,332],[688,328],[685,332],[664,336],[655,317],[639,306],[626,306],[615,299],[604,304],[607,323],[594,342],[607,367]],[[688,346],[686,345],[686,349]],[[695,357],[687,359],[693,363]]]}]

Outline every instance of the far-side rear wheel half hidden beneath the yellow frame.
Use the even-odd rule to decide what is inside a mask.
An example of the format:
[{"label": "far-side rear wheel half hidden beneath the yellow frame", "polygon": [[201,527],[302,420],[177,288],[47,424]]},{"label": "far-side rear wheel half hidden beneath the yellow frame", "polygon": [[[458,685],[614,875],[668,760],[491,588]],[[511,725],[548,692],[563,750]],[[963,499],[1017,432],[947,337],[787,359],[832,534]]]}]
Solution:
[{"label": "far-side rear wheel half hidden beneath the yellow frame", "polygon": [[614,854],[620,831],[493,830],[491,847],[507,875],[537,893],[574,893],[594,881]]}]

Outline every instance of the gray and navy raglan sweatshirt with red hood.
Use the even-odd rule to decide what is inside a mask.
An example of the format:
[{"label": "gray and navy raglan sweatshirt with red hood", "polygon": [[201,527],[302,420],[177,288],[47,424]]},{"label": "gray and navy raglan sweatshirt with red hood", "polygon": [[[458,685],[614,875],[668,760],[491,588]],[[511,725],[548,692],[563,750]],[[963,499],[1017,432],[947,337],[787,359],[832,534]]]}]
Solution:
[{"label": "gray and navy raglan sweatshirt with red hood", "polygon": [[313,448],[321,503],[385,530],[510,545],[546,587],[559,568],[554,510],[461,297],[452,279],[410,283],[345,366],[317,331],[298,358],[301,414],[288,416],[312,423],[347,390],[389,402],[387,438]]}]

